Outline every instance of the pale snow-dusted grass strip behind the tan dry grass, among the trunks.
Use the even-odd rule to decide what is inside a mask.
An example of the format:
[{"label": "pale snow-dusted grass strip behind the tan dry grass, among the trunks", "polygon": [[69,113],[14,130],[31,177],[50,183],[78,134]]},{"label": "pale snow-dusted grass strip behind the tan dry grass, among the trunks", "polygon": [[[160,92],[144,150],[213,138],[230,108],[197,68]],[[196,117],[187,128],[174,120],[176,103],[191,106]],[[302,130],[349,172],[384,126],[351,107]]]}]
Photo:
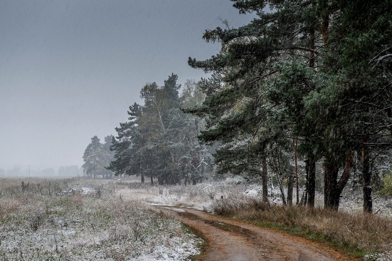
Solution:
[{"label": "pale snow-dusted grass strip behind the tan dry grass, among the trunks", "polygon": [[[199,210],[212,212],[212,204],[222,197],[262,197],[262,187],[260,184],[247,184],[241,177],[226,178],[221,182],[198,183],[195,186],[151,186],[135,182],[117,182],[120,189],[117,194],[122,197],[132,197],[133,199],[144,201],[148,204],[167,206],[186,206]],[[282,205],[281,193],[277,187],[270,187],[268,198],[271,205]],[[284,189],[287,199],[287,188]],[[299,198],[303,190],[299,190]],[[339,210],[348,213],[360,213],[363,208],[362,191],[346,188],[343,190]],[[374,212],[379,210],[377,215],[392,219],[391,198],[385,198],[374,194]],[[293,203],[295,204],[295,189],[293,193]],[[315,207],[323,208],[323,194],[316,192]]]}]

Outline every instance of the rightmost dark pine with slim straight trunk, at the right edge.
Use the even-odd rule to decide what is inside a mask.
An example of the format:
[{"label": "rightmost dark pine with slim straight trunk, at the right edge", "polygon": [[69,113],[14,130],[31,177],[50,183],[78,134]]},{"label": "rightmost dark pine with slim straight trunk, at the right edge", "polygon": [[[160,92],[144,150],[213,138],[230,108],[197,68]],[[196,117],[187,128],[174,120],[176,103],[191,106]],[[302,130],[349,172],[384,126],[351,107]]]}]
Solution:
[{"label": "rightmost dark pine with slim straight trunk, at the right edge", "polygon": [[325,63],[335,76],[328,99],[341,126],[334,133],[361,151],[364,211],[371,213],[372,155],[392,148],[392,1],[333,4]]}]

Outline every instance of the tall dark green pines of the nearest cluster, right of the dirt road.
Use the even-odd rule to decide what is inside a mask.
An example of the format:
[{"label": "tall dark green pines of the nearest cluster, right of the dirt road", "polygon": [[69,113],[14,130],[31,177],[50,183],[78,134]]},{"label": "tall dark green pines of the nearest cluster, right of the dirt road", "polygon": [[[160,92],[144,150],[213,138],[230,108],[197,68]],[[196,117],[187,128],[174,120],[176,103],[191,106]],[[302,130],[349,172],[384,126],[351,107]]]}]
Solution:
[{"label": "tall dark green pines of the nearest cluster, right of the dirt road", "polygon": [[294,139],[309,165],[308,205],[322,159],[324,206],[338,209],[353,154],[361,151],[364,210],[371,212],[369,159],[392,144],[392,2],[233,1],[240,13],[258,17],[207,30],[203,38],[221,50],[188,60],[213,72],[201,82],[204,103],[187,112],[206,119],[202,141],[222,143],[219,171],[260,172],[277,148],[296,154],[285,145]]}]

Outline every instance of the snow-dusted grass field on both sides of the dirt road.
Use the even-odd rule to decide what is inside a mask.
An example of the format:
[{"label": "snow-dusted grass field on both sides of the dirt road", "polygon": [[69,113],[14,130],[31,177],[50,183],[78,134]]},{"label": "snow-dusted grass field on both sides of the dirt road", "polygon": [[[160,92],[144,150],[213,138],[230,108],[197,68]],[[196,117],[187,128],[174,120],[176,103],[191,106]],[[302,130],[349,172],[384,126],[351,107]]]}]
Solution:
[{"label": "snow-dusted grass field on both sides of the dirt road", "polygon": [[[270,204],[260,187],[238,179],[196,186],[151,186],[134,180],[0,180],[0,260],[190,260],[202,239],[154,205],[190,207],[322,241],[343,252],[392,260],[392,206],[360,210],[360,196],[343,193],[341,210]],[[322,205],[318,196],[317,205]]]}]

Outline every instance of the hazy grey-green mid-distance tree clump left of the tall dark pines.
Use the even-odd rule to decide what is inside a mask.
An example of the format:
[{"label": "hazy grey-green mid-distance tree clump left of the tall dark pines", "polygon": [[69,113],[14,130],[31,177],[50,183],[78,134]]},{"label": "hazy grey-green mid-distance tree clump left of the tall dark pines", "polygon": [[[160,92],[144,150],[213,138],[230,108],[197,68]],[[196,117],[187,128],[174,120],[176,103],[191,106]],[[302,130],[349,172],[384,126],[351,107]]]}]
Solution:
[{"label": "hazy grey-green mid-distance tree clump left of the tall dark pines", "polygon": [[193,81],[187,81],[180,96],[177,75],[172,74],[164,86],[148,83],[140,92],[144,105],[129,107],[129,121],[116,128],[113,138],[115,160],[109,169],[116,175],[145,175],[159,184],[200,182],[211,169],[212,156],[197,141],[203,121],[186,115],[179,107],[196,106],[204,99]]}]

